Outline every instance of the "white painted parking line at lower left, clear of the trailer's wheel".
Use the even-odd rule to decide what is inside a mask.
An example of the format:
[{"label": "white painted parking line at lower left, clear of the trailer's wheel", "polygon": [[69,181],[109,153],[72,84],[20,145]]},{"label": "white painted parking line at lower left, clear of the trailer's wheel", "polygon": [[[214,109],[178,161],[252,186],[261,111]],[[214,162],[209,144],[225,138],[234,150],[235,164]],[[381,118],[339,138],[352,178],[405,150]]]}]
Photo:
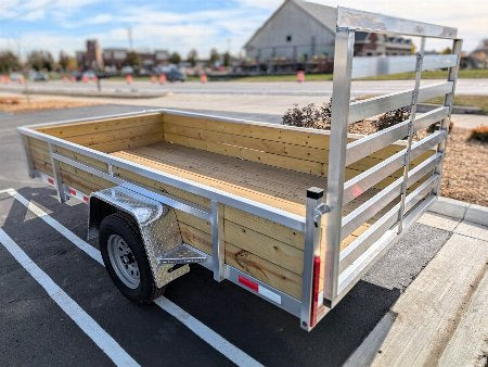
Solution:
[{"label": "white painted parking line at lower left, clear of the trailer's wheel", "polygon": [[139,366],[132,357],[69,298],[30,257],[0,228],[0,243],[44,289],[49,296],[117,366]]}]

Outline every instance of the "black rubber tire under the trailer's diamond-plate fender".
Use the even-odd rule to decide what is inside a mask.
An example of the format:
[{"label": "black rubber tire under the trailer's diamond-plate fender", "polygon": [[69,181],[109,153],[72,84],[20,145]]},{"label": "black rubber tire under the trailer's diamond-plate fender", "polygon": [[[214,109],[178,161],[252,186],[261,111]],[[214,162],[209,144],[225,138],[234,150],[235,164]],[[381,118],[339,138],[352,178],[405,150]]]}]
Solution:
[{"label": "black rubber tire under the trailer's diamond-plate fender", "polygon": [[[132,251],[133,257],[139,266],[141,279],[136,289],[127,287],[113,268],[107,250],[107,242],[111,235],[120,236]],[[154,282],[139,228],[129,215],[115,213],[106,216],[100,225],[99,245],[103,263],[112,281],[126,298],[140,304],[147,304],[164,293],[165,288],[157,288]]]}]

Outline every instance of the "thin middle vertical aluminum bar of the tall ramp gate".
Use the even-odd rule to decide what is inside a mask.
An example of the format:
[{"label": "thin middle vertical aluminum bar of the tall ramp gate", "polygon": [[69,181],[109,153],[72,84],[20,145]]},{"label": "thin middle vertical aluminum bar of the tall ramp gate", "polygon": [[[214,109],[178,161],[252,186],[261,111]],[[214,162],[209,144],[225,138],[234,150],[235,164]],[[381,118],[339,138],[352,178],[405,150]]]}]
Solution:
[{"label": "thin middle vertical aluminum bar of the tall ramp gate", "polygon": [[410,109],[410,121],[409,121],[409,138],[407,144],[407,151],[403,155],[403,181],[401,182],[401,193],[400,193],[400,208],[398,211],[398,233],[401,233],[403,230],[403,215],[404,215],[404,200],[407,198],[407,189],[408,189],[408,178],[410,170],[410,153],[412,151],[412,140],[413,140],[413,125],[415,124],[416,116],[416,101],[419,99],[419,88],[422,78],[422,63],[424,61],[425,53],[425,37],[422,37],[421,48],[416,54],[416,64],[415,64],[415,86],[413,88],[412,93],[412,103]]}]

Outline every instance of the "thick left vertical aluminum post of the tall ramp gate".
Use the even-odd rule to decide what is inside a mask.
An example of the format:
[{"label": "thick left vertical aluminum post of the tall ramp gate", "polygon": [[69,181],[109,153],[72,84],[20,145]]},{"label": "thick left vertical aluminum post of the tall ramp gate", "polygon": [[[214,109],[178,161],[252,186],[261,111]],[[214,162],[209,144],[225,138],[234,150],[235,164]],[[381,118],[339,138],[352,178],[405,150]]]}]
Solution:
[{"label": "thick left vertical aluminum post of the tall ramp gate", "polygon": [[331,305],[337,295],[354,46],[355,31],[349,28],[337,27],[326,198],[330,212],[325,215],[324,298]]}]

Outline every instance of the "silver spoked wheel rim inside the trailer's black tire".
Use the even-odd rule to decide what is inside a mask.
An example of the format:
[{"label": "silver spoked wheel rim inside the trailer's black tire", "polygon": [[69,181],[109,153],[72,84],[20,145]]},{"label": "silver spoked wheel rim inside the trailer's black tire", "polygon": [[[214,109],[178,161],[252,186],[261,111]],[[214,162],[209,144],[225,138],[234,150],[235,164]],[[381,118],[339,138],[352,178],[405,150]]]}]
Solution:
[{"label": "silver spoked wheel rim inside the trailer's black tire", "polygon": [[126,241],[118,235],[111,235],[107,241],[108,258],[118,279],[130,289],[141,282],[139,265]]}]

